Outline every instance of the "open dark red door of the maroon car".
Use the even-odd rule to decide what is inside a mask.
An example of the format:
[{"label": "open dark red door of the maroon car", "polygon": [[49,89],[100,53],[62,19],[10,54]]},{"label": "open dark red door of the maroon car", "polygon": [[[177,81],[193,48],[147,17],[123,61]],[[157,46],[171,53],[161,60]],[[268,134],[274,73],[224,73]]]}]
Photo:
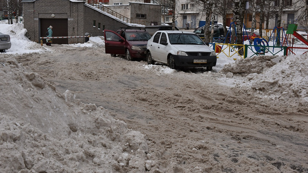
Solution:
[{"label": "open dark red door of the maroon car", "polygon": [[110,54],[125,54],[124,38],[111,30],[104,31],[105,52]]}]

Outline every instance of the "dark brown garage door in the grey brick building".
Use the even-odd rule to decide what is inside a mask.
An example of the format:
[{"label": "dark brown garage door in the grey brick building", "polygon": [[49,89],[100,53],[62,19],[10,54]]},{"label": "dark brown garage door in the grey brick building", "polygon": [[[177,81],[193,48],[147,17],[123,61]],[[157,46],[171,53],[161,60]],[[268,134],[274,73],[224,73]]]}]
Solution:
[{"label": "dark brown garage door in the grey brick building", "polygon": [[[68,36],[68,19],[40,19],[40,37],[46,37],[46,31],[52,26],[52,37]],[[46,39],[43,39],[46,43]],[[68,39],[52,39],[53,44],[68,44]]]}]

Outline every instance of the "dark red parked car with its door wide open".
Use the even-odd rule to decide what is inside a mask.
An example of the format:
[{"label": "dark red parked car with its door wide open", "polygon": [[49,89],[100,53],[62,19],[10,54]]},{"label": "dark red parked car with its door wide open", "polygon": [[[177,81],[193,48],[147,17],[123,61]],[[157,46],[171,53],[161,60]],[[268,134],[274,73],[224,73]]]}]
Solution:
[{"label": "dark red parked car with its door wide open", "polygon": [[127,60],[146,58],[151,35],[145,29],[105,30],[105,51],[111,56],[124,55]]}]

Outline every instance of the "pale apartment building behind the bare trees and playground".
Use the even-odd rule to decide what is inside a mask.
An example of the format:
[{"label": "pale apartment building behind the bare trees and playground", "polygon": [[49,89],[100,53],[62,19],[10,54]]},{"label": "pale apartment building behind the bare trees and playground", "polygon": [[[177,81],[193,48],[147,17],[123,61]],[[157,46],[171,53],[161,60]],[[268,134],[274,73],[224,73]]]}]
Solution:
[{"label": "pale apartment building behind the bare trees and playground", "polygon": [[[166,0],[167,1],[167,0]],[[155,0],[153,0],[155,3]],[[260,28],[260,1],[257,0],[256,4],[252,1],[248,1],[248,9],[245,10],[244,24],[246,28],[252,28],[252,12],[253,8],[256,9],[256,25],[254,28]],[[279,0],[270,1],[269,4],[265,4],[265,20],[263,28],[268,25],[269,29],[273,29],[277,25],[278,19],[278,3]],[[283,0],[283,10],[281,16],[281,27],[287,28],[288,24],[298,24],[299,29],[304,29],[305,24],[301,23],[298,19],[300,14],[307,8],[305,8],[304,0]],[[226,14],[226,25],[230,26],[233,20],[232,8],[234,8],[234,3],[228,3],[230,7]],[[214,12],[214,22],[223,23],[223,17],[218,11]],[[267,16],[268,15],[268,16]],[[186,24],[190,23],[190,28],[198,27],[200,21],[205,21],[205,12],[203,4],[192,2],[191,0],[176,0],[175,8],[175,23],[179,28],[186,28]],[[170,4],[162,5],[162,23],[172,24],[172,6]],[[269,18],[269,20],[267,20]],[[307,22],[307,21],[306,21]],[[267,24],[268,23],[268,24]],[[307,28],[307,26],[306,26]]]}]

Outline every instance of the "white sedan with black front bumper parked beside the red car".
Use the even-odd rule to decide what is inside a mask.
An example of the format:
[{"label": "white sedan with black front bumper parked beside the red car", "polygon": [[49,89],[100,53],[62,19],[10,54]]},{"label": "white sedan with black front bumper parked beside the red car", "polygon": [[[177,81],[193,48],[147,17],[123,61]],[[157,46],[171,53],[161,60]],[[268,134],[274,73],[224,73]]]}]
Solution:
[{"label": "white sedan with black front bumper parked beside the red car", "polygon": [[157,31],[148,41],[147,62],[167,64],[172,69],[216,66],[215,51],[189,31]]}]

